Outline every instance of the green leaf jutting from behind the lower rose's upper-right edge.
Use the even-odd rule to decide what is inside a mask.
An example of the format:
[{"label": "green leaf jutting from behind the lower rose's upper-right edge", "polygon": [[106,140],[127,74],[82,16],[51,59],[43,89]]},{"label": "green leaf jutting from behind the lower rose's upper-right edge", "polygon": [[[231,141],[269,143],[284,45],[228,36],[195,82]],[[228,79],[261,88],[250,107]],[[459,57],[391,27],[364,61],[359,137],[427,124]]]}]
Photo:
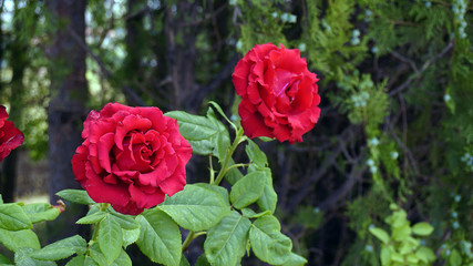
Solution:
[{"label": "green leaf jutting from behind the lower rose's upper-right edge", "polygon": [[214,151],[210,140],[218,131],[209,119],[184,111],[172,111],[164,115],[177,119],[179,133],[189,142],[194,153],[207,155]]}]

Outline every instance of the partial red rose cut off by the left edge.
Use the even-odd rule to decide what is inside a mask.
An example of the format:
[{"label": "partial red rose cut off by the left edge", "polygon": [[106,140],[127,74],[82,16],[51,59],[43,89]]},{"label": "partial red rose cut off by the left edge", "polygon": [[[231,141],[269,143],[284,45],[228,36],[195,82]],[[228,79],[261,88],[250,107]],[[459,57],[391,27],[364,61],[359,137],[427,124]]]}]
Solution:
[{"label": "partial red rose cut off by the left edge", "polygon": [[0,105],[0,162],[24,141],[23,133],[7,119],[8,113],[4,106]]}]

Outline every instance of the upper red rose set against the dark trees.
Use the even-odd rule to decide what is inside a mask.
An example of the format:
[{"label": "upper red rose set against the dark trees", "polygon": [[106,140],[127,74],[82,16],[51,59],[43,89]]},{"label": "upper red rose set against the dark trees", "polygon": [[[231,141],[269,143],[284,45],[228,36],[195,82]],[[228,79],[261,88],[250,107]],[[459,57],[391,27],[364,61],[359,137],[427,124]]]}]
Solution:
[{"label": "upper red rose set against the dark trees", "polygon": [[238,114],[249,137],[301,142],[317,123],[317,75],[299,50],[256,44],[235,66],[233,82],[241,102]]}]

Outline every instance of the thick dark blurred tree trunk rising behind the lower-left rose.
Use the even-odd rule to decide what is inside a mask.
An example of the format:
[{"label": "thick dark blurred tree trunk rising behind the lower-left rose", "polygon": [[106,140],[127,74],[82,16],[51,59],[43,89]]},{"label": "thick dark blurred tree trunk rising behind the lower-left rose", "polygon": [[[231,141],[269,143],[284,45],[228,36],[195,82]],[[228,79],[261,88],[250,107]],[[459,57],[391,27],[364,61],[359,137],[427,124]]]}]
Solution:
[{"label": "thick dark blurred tree trunk rising behind the lower-left rose", "polygon": [[[88,99],[85,80],[85,51],[73,38],[85,40],[85,0],[48,0],[56,31],[49,48],[51,59],[51,102],[48,110],[49,123],[49,193],[55,203],[55,193],[64,188],[80,188],[72,172],[71,158],[82,143],[81,131]],[[73,32],[73,33],[71,33]],[[85,42],[85,41],[84,41]],[[69,211],[69,212],[68,212]],[[83,211],[83,209],[82,209]],[[76,216],[82,215],[76,206],[70,205],[56,223],[60,232],[51,238],[78,234]],[[71,228],[64,231],[63,228]],[[65,234],[64,234],[65,233]],[[80,233],[80,232],[79,232]],[[52,232],[54,235],[55,232]],[[52,241],[50,239],[50,241]]]}]

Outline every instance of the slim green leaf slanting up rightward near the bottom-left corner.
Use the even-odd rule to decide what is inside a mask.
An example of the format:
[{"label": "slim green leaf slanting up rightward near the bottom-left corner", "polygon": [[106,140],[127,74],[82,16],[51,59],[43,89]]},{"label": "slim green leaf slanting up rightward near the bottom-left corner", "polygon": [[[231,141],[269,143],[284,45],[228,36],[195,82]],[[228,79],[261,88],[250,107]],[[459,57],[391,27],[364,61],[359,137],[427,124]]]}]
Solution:
[{"label": "slim green leaf slanting up rightward near the bottom-left corner", "polygon": [[64,238],[33,252],[30,257],[42,260],[58,260],[74,254],[83,255],[88,252],[88,244],[79,235]]}]

